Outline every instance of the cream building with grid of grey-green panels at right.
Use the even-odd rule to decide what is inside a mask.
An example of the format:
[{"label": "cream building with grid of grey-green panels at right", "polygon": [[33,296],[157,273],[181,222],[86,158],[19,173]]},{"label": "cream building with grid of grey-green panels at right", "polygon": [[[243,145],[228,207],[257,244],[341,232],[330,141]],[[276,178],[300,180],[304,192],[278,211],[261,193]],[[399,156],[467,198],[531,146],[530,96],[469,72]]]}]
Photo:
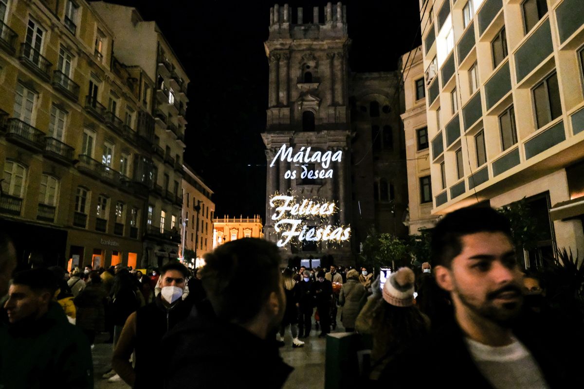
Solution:
[{"label": "cream building with grid of grey-green panels at right", "polygon": [[524,267],[556,248],[582,253],[582,2],[429,3],[420,1],[432,213],[525,198],[541,237]]}]

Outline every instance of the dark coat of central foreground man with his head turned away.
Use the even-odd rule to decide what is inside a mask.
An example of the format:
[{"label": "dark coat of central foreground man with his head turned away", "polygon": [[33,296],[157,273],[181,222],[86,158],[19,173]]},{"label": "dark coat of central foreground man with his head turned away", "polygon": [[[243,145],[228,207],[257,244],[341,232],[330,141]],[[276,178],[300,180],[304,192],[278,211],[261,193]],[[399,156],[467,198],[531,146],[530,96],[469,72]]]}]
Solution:
[{"label": "dark coat of central foreground man with his head turned away", "polygon": [[276,342],[205,315],[177,325],[162,347],[172,351],[157,370],[165,372],[165,389],[278,389],[293,370]]}]

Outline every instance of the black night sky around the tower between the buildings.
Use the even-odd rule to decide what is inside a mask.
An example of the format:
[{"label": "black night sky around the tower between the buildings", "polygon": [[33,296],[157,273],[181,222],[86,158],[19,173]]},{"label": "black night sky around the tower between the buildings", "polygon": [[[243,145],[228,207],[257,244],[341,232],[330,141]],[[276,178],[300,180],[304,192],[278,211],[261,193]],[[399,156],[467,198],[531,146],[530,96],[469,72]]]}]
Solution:
[{"label": "black night sky around the tower between the buildings", "polygon": [[[215,214],[264,218],[266,157],[260,134],[266,127],[268,64],[263,42],[276,2],[113,2],[137,6],[145,20],[156,20],[186,68],[184,159],[215,192]],[[288,5],[307,13],[307,7],[322,8],[326,1]],[[417,0],[347,0],[343,5],[352,39],[351,71],[395,70],[399,56],[420,44]]]}]

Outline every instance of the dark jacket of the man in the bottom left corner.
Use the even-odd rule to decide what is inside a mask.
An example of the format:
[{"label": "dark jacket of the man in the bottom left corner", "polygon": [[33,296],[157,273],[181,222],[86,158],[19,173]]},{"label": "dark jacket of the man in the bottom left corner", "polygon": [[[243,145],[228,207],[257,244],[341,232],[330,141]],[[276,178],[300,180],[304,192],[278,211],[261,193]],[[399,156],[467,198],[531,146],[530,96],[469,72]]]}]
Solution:
[{"label": "dark jacket of the man in the bottom left corner", "polygon": [[58,303],[39,320],[0,325],[0,387],[93,388],[89,342]]}]

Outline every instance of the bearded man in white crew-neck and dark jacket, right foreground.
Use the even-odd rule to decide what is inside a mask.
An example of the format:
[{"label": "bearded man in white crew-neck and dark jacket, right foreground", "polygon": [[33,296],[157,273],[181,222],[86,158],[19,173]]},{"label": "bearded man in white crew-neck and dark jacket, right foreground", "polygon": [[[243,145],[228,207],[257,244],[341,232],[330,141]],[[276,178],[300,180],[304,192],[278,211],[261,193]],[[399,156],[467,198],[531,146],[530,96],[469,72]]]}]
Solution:
[{"label": "bearded man in white crew-neck and dark jacket, right foreground", "polygon": [[[416,349],[429,369],[418,375],[419,387],[583,387],[571,369],[576,354],[558,335],[537,323],[514,327],[523,275],[504,216],[491,208],[458,209],[434,227],[431,249],[437,285],[449,292],[454,317]],[[408,376],[404,360],[397,358],[384,374]]]}]

